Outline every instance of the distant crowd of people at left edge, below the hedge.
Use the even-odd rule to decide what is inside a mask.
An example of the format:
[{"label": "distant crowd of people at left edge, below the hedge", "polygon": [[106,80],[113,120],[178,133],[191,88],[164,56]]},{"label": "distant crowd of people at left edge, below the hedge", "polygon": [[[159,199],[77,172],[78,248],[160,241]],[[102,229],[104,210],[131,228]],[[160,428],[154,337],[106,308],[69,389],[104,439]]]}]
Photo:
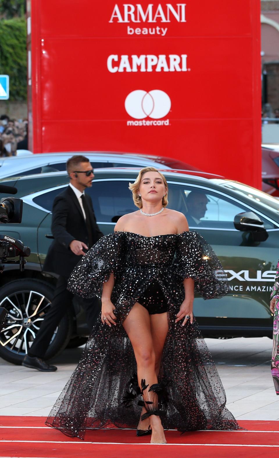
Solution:
[{"label": "distant crowd of people at left edge, below the hedge", "polygon": [[27,119],[11,119],[0,116],[0,157],[16,156],[18,149],[28,149]]}]

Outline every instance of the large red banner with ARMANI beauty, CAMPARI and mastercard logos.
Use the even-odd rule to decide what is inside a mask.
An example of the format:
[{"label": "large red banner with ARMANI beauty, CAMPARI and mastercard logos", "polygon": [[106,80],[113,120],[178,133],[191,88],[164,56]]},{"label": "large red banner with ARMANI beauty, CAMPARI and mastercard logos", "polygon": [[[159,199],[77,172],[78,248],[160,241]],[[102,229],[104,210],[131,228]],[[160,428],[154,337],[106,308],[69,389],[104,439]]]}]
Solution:
[{"label": "large red banner with ARMANI beauty, CAMPARI and mastercard logos", "polygon": [[33,0],[33,151],[171,156],[261,186],[259,0]]}]

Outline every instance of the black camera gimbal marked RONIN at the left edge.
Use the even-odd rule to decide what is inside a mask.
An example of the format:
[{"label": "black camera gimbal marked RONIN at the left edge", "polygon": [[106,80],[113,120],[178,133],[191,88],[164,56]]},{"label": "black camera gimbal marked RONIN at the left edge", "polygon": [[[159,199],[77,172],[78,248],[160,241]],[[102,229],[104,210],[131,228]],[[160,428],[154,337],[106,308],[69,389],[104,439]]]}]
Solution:
[{"label": "black camera gimbal marked RONIN at the left edge", "polygon": [[[19,264],[21,272],[26,263],[25,257],[30,255],[29,246],[24,246],[21,240],[16,240],[9,235],[0,234],[0,273],[3,272],[2,264]],[[19,256],[19,260],[10,259]]]}]

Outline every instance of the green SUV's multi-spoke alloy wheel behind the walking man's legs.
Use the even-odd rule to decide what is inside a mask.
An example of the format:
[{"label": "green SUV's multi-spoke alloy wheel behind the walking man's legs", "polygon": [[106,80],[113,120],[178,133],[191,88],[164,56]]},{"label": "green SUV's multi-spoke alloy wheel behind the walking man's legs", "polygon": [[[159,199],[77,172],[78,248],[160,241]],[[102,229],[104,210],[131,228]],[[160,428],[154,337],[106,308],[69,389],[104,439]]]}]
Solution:
[{"label": "green SUV's multi-spoke alloy wheel behind the walking man's legs", "polygon": [[[39,280],[19,279],[0,289],[0,307],[9,312],[0,331],[0,357],[21,365],[31,348],[45,314],[51,306],[54,287]],[[72,333],[71,312],[64,316],[45,354],[48,360],[59,354],[68,344]]]}]

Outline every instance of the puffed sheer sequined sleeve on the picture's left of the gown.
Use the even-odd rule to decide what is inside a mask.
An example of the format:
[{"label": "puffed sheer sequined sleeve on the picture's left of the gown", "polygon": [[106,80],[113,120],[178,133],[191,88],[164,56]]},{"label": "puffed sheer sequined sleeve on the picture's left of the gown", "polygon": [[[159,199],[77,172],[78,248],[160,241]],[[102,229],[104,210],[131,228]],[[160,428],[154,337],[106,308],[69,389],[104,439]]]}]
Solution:
[{"label": "puffed sheer sequined sleeve on the picture's left of the gown", "polygon": [[102,237],[76,265],[68,289],[82,297],[101,299],[102,286],[111,273],[117,277],[124,264],[123,234],[114,232]]}]

